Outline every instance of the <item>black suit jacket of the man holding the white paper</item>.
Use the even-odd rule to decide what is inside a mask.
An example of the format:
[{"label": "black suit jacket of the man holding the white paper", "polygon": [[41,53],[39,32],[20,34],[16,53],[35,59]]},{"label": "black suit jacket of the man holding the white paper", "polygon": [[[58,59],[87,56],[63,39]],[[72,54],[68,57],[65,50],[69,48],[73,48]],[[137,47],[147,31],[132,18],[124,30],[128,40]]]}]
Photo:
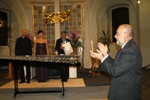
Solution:
[{"label": "black suit jacket of the man holding the white paper", "polygon": [[[66,39],[67,42],[70,42],[69,39]],[[55,50],[58,51],[58,54],[65,54],[64,50],[60,49],[61,44],[63,43],[62,38],[57,39]]]}]

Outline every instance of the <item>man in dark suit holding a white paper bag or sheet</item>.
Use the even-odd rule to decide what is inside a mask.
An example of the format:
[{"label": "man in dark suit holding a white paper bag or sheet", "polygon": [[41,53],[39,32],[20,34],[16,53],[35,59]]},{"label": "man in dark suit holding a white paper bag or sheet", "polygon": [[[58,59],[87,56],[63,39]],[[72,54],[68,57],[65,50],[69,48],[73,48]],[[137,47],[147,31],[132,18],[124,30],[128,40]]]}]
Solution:
[{"label": "man in dark suit holding a white paper bag or sheet", "polygon": [[[57,39],[57,41],[56,41],[55,50],[58,52],[58,54],[65,54],[65,52],[63,50],[64,46],[62,46],[62,44],[65,43],[65,42],[71,42],[66,37],[67,37],[67,32],[66,31],[62,31],[61,32],[61,38]],[[66,65],[64,68],[65,68],[64,69],[64,76],[61,75],[61,79],[63,79],[63,81],[67,82],[67,80],[69,78],[69,66]]]}]

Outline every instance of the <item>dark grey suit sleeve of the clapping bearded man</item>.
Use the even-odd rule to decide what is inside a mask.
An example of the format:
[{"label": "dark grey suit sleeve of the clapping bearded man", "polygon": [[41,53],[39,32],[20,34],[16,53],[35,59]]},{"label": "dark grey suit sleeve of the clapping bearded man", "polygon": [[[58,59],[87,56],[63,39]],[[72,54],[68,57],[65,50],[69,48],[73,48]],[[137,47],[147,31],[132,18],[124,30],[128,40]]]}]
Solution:
[{"label": "dark grey suit sleeve of the clapping bearded man", "polygon": [[108,72],[112,77],[119,77],[134,66],[136,67],[137,54],[133,49],[127,49],[120,53],[118,58],[112,59],[110,56],[104,60],[101,69]]}]

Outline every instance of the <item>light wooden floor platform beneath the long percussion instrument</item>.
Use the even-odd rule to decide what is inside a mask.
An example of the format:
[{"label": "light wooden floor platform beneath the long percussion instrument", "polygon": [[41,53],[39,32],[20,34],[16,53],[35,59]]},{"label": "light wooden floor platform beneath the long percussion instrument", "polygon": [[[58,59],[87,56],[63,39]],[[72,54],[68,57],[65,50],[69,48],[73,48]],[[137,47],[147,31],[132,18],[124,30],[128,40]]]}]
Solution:
[{"label": "light wooden floor platform beneath the long percussion instrument", "polygon": [[[61,87],[62,82],[60,79],[50,79],[46,82],[38,82],[32,79],[30,84],[23,83],[18,85],[19,88],[46,88],[46,87]],[[85,87],[85,83],[82,78],[71,78],[68,82],[64,82],[65,87]],[[14,88],[14,81],[11,81],[0,88]]]}]

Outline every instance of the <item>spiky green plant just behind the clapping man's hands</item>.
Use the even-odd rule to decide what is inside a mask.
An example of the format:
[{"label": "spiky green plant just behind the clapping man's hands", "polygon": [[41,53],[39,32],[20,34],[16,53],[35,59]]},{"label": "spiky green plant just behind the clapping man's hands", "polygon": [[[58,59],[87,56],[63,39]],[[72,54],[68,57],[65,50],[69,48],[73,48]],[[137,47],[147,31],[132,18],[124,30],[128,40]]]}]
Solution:
[{"label": "spiky green plant just behind the clapping man's hands", "polygon": [[108,47],[108,52],[110,52],[110,45],[112,44],[112,41],[111,41],[111,35],[109,32],[105,33],[103,30],[102,30],[102,33],[101,33],[101,37],[98,39],[98,42],[101,42],[103,43],[104,45],[107,45]]}]

